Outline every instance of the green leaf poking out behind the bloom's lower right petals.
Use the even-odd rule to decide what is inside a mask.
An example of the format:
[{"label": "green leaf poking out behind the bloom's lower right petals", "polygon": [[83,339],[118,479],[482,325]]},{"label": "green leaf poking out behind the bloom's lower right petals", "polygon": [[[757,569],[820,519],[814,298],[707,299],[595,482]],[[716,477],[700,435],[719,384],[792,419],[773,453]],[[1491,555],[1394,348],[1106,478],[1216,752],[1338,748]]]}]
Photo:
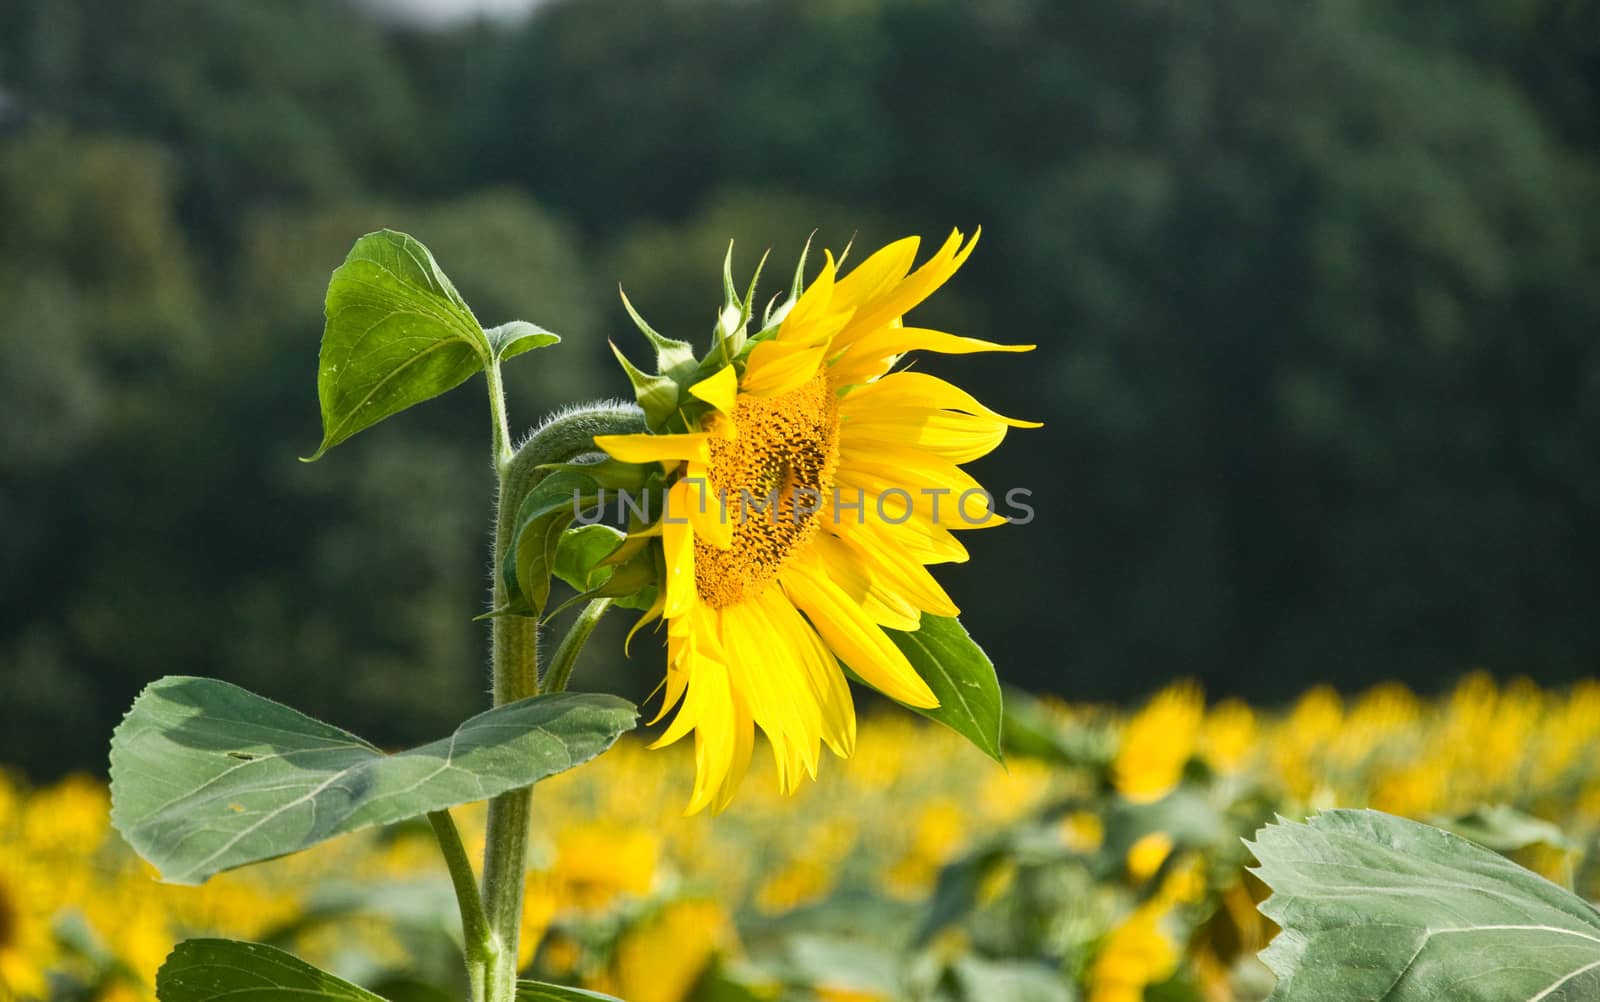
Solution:
[{"label": "green leaf poking out behind the bloom's lower right petals", "polygon": [[906,659],[939,698],[939,706],[933,709],[912,709],[944,723],[1003,764],[1000,680],[989,655],[973,642],[966,629],[955,619],[923,613],[922,626],[912,632],[883,632],[906,653]]}]

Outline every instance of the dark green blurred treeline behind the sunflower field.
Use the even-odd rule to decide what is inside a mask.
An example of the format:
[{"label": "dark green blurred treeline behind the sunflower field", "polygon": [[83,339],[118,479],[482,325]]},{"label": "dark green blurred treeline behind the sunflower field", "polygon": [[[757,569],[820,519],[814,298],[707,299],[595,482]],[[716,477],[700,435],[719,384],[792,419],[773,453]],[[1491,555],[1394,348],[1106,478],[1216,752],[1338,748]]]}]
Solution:
[{"label": "dark green blurred treeline behind the sunflower field", "polygon": [[[984,238],[930,365],[1046,421],[947,579],[1013,682],[1282,698],[1600,664],[1600,5],[0,2],[0,760],[98,767],[218,674],[386,741],[482,699],[478,384],[317,466],[328,272],[378,226],[626,391],[741,272]],[[653,651],[614,658],[643,698]]]}]

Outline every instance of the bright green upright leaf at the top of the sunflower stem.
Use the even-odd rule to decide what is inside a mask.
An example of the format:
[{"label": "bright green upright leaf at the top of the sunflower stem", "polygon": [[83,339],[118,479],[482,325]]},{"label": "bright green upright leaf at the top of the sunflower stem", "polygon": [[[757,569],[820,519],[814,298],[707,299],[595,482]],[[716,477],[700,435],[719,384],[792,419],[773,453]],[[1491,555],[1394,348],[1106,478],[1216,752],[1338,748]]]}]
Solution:
[{"label": "bright green upright leaf at the top of the sunflower stem", "polygon": [[326,317],[317,363],[322,445],[307,461],[461,386],[493,352],[434,255],[389,229],[357,240],[333,272]]}]

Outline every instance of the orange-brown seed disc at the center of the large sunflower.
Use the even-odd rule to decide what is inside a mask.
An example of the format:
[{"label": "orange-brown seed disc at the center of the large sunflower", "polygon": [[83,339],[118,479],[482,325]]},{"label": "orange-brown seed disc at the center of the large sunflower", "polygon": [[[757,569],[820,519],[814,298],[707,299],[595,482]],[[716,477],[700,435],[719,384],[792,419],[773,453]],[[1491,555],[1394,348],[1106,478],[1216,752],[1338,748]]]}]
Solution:
[{"label": "orange-brown seed disc at the center of the large sunflower", "polygon": [[838,464],[838,405],[826,373],[776,397],[741,395],[733,424],[733,440],[712,440],[707,471],[726,498],[733,546],[694,541],[694,586],[712,608],[765,586],[816,533]]}]

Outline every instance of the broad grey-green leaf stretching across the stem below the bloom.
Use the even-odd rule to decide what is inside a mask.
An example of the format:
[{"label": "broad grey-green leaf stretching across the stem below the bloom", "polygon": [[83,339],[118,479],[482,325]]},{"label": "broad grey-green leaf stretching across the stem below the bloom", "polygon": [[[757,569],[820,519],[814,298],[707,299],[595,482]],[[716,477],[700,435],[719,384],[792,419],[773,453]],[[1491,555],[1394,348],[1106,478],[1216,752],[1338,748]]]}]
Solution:
[{"label": "broad grey-green leaf stretching across the stem below the bloom", "polygon": [[456,733],[384,754],[216,679],[152,682],[110,743],[110,820],[163,879],[198,884],[368,824],[531,786],[634,727],[616,696],[507,703]]}]

